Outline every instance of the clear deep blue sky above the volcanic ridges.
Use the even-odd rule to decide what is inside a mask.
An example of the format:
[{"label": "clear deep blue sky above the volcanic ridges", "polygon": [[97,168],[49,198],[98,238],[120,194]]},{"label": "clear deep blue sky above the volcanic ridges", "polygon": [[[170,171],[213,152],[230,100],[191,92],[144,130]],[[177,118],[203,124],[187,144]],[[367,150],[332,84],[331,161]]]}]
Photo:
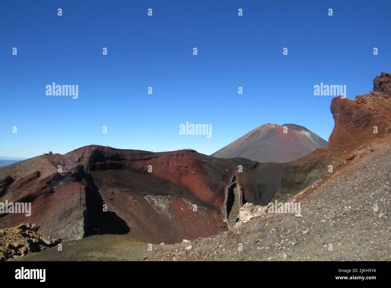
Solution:
[{"label": "clear deep blue sky above the volcanic ridges", "polygon": [[[90,144],[211,154],[264,123],[296,123],[327,140],[332,96],[314,96],[314,85],[347,85],[354,99],[391,72],[389,0],[0,6],[2,156]],[[79,85],[79,98],[47,96],[52,82]],[[212,138],[179,135],[186,121],[212,124]]]}]

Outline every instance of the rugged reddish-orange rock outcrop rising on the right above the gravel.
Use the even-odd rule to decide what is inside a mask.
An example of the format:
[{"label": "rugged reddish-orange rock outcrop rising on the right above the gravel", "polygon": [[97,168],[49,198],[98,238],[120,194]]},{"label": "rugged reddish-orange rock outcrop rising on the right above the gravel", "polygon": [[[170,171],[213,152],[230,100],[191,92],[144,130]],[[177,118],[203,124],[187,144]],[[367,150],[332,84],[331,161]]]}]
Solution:
[{"label": "rugged reddish-orange rock outcrop rising on the right above the gravel", "polygon": [[369,94],[357,95],[355,100],[333,98],[330,110],[335,124],[328,147],[287,163],[282,188],[276,198],[291,199],[328,175],[329,165],[334,169],[340,167],[357,158],[358,151],[369,151],[373,143],[388,139],[391,133],[390,91],[391,74],[382,72],[373,80],[373,91]]}]

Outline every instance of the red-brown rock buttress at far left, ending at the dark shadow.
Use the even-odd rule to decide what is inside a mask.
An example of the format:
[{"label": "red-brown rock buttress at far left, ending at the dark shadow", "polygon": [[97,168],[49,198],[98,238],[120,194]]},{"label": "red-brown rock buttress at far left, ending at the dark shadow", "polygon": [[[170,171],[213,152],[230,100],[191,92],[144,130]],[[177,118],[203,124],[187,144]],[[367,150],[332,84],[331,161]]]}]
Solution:
[{"label": "red-brown rock buttress at far left, ending at the dark shadow", "polygon": [[[63,165],[62,174],[57,172],[58,165]],[[44,235],[63,239],[84,237],[86,191],[70,177],[72,167],[74,164],[69,159],[54,154],[50,158],[37,156],[1,169],[0,183],[4,185],[0,202],[31,203],[31,215],[0,214],[0,228],[34,222],[41,226],[39,232]]]}]

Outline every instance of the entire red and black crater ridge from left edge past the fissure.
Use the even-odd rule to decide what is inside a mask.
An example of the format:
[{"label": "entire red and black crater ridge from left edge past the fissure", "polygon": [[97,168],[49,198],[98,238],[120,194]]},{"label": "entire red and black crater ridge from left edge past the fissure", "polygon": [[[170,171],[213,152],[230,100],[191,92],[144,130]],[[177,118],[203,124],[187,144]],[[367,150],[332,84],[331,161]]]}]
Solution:
[{"label": "entire red and black crater ridge from left edge past the fissure", "polygon": [[150,243],[194,239],[227,230],[245,201],[266,205],[281,188],[284,171],[278,163],[194,150],[90,145],[1,168],[0,201],[32,202],[32,214],[0,217],[0,228],[34,222],[41,234],[63,239],[108,233]]}]

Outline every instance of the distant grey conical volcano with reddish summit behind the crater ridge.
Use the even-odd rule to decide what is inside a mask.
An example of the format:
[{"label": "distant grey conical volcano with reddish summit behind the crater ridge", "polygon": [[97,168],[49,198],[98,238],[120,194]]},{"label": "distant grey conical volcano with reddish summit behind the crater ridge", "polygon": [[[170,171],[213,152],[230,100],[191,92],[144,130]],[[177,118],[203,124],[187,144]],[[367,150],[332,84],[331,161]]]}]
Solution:
[{"label": "distant grey conical volcano with reddish summit behind the crater ridge", "polygon": [[[288,129],[284,133],[284,126]],[[243,157],[259,162],[289,162],[327,147],[327,141],[296,124],[261,125],[216,151],[219,158]]]}]

